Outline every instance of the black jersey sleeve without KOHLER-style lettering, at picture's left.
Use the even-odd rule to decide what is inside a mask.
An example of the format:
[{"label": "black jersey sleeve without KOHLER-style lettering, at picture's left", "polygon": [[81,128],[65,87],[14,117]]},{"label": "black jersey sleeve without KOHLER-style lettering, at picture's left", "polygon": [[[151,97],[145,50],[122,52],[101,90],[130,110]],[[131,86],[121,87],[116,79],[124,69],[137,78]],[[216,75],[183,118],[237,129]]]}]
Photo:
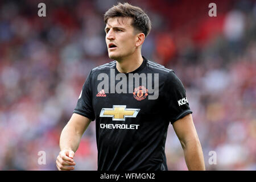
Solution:
[{"label": "black jersey sleeve without KOHLER-style lettering, at picture's left", "polygon": [[73,113],[83,115],[86,118],[92,119],[94,121],[95,115],[92,106],[92,71],[86,78],[84,85],[77,101],[77,105]]}]

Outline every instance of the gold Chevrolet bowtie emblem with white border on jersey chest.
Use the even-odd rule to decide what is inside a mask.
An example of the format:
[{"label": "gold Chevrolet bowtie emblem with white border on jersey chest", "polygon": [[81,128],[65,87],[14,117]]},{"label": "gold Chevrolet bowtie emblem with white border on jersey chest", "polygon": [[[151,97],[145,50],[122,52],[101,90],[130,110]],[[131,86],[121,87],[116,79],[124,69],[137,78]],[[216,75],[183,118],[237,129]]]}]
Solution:
[{"label": "gold Chevrolet bowtie emblem with white border on jersey chest", "polygon": [[125,121],[125,118],[136,118],[141,109],[126,109],[126,105],[113,105],[113,108],[102,108],[100,117],[111,117],[113,121]]}]

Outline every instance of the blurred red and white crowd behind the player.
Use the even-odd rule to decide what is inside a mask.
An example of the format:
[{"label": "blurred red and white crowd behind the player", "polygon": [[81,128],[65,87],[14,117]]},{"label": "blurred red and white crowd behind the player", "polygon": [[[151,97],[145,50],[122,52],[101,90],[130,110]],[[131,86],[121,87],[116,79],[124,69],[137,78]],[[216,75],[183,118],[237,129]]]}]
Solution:
[{"label": "blurred red and white crowd behind the player", "polygon": [[[38,4],[46,3],[46,17]],[[123,1],[119,1],[123,2]],[[256,2],[127,1],[150,16],[142,55],[187,91],[208,170],[256,170]],[[90,69],[108,63],[103,15],[117,1],[0,1],[0,170],[56,170],[61,130]],[[46,164],[38,164],[39,151]],[[210,151],[217,163],[210,164]],[[187,170],[172,125],[169,170]],[[75,155],[97,169],[95,122]]]}]

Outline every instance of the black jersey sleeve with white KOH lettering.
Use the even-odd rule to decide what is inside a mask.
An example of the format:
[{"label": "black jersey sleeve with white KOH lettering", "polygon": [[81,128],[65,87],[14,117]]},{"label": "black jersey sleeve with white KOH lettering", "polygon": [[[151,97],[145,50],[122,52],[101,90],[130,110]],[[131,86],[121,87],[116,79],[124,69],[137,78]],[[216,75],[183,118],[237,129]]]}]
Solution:
[{"label": "black jersey sleeve with white KOH lettering", "polygon": [[171,124],[183,118],[185,115],[192,113],[185,88],[174,71],[170,71],[167,75],[167,80],[164,82],[163,95],[167,118]]}]

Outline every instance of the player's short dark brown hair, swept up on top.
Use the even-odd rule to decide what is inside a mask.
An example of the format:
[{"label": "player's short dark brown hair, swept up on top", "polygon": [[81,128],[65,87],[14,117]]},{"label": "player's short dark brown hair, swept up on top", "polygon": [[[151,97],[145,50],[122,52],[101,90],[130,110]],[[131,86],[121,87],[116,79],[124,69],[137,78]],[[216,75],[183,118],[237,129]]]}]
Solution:
[{"label": "player's short dark brown hair, swept up on top", "polygon": [[118,3],[118,5],[113,6],[104,14],[104,21],[108,23],[109,18],[114,18],[117,16],[130,17],[133,18],[133,26],[135,29],[143,32],[147,36],[151,29],[151,22],[148,15],[137,6],[132,6],[129,3]]}]

